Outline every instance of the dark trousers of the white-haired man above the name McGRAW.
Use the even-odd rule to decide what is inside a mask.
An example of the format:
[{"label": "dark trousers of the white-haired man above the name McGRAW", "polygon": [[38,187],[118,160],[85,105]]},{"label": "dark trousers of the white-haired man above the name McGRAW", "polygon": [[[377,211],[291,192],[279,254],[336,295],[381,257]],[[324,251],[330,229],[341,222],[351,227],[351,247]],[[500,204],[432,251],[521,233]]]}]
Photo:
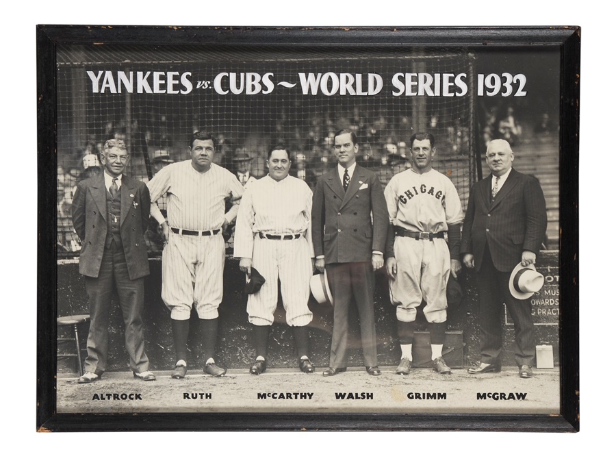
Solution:
[{"label": "dark trousers of the white-haired man above the name McGRAW", "polygon": [[479,289],[479,349],[481,362],[500,364],[502,351],[502,303],[513,320],[515,362],[532,365],[535,359],[535,327],[532,323],[530,299],[515,299],[509,292],[511,272],[498,271],[486,246],[481,268],[477,273]]}]

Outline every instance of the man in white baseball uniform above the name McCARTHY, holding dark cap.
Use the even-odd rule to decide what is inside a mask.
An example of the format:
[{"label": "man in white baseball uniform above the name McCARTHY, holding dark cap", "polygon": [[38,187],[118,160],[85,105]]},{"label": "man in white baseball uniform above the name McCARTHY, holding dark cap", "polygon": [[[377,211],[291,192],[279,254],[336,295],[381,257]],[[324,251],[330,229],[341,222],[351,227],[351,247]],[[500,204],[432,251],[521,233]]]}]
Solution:
[{"label": "man in white baseball uniform above the name McCARTHY, holding dark cap", "polygon": [[293,329],[299,367],[313,373],[308,357],[308,308],[312,257],[310,216],[312,191],[301,179],[289,175],[291,160],[282,145],[268,153],[269,174],[247,186],[235,226],[233,255],[248,277],[254,266],[265,278],[261,289],[248,295],[248,321],[253,325],[257,357],[250,373],[267,368],[268,335],[274,323],[280,279],[287,324]]}]

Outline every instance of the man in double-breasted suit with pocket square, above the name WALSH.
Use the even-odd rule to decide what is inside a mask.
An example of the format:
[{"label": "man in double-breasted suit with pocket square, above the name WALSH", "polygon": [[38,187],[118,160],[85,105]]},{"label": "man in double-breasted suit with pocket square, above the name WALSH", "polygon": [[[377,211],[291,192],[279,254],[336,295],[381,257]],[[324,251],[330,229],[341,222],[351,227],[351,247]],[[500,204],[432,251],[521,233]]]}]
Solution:
[{"label": "man in double-breasted suit with pocket square, above the name WALSH", "polygon": [[383,267],[387,204],[376,173],[355,162],[359,151],[355,133],[338,131],[334,151],[338,164],[318,179],[312,205],[315,266],[320,273],[326,271],[334,306],[329,368],[323,376],[346,371],[348,312],[353,301],[359,313],[365,369],[378,376],[374,270]]}]

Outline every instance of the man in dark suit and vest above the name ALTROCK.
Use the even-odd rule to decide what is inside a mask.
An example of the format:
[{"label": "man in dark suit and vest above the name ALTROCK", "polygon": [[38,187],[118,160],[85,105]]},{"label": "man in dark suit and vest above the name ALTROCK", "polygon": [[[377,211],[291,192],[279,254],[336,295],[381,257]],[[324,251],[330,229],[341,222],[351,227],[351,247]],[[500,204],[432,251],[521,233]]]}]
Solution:
[{"label": "man in dark suit and vest above the name ALTROCK", "polygon": [[88,357],[80,384],[99,379],[107,369],[114,286],[124,316],[133,375],[144,381],[156,379],[148,369],[141,321],[144,276],[150,273],[143,238],[150,194],[144,183],[123,174],[129,159],[122,140],[107,140],[101,154],[103,173],[81,181],[73,199],[73,225],[82,243],[79,273],[85,276],[90,298]]}]

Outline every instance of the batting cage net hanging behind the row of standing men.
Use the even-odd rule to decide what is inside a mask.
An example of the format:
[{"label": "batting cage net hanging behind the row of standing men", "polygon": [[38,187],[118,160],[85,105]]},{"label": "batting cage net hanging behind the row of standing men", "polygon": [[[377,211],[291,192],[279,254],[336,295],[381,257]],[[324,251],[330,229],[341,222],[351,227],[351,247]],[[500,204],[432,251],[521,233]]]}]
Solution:
[{"label": "batting cage net hanging behind the row of standing men", "polygon": [[[444,87],[443,80],[465,75],[461,79],[470,86],[472,58],[450,47],[391,53],[372,50],[366,57],[357,49],[315,47],[59,49],[58,257],[79,252],[70,220],[73,194],[81,179],[100,172],[98,155],[111,138],[125,140],[131,155],[127,175],[142,181],[170,162],[188,160],[194,131],[214,136],[216,163],[253,177],[267,174],[268,147],[281,143],[290,151],[291,174],[313,187],[335,166],[335,131],[348,128],[359,139],[359,164],[378,172],[385,188],[410,166],[411,134],[428,131],[436,140],[433,166],[452,179],[465,207],[475,178],[473,92],[452,98],[465,84],[452,85],[451,77]],[[159,206],[164,210],[164,199]],[[155,225],[147,235],[151,253],[159,253]]]}]

